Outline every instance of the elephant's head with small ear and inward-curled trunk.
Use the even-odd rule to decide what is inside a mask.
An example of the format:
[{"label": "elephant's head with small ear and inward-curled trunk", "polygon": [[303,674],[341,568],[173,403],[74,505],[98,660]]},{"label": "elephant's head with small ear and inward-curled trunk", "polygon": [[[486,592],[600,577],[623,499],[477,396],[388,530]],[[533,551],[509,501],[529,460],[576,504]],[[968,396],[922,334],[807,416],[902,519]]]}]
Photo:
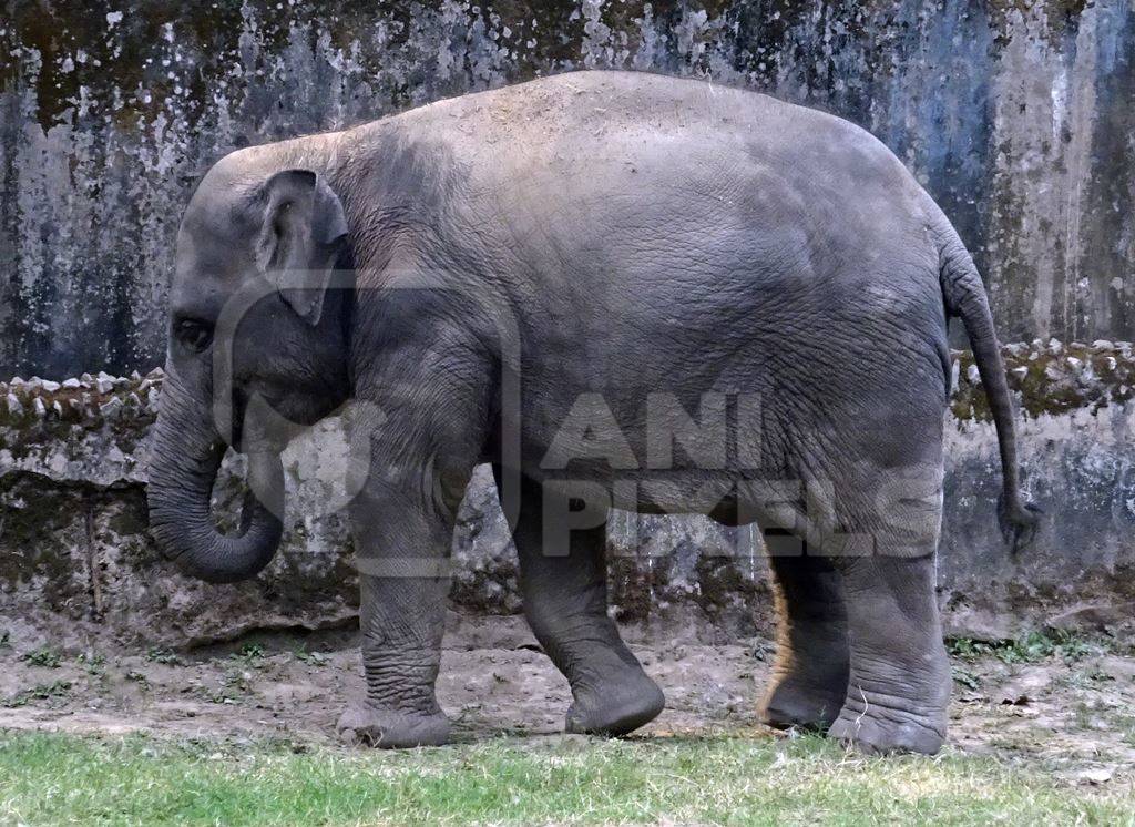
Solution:
[{"label": "elephant's head with small ear and inward-curled trunk", "polygon": [[[249,149],[217,163],[177,236],[150,524],[163,554],[216,583],[251,577],[271,559],[280,452],[295,425],[350,394],[343,206],[323,175],[276,158]],[[255,493],[234,535],[210,514],[227,445],[247,454]]]}]

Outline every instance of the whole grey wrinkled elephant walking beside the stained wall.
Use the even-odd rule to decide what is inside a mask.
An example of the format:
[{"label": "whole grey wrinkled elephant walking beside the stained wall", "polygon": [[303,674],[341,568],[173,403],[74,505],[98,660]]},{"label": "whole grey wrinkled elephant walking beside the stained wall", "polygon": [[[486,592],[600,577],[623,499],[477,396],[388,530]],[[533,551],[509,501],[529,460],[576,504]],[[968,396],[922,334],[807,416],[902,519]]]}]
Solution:
[{"label": "whole grey wrinkled elephant walking beside the stained wall", "polygon": [[[261,571],[287,441],[348,403],[370,412],[347,507],[367,689],[337,729],[353,743],[448,737],[447,560],[479,464],[524,615],[571,686],[565,728],[607,736],[664,706],[608,615],[619,507],[767,538],[763,720],[868,753],[940,749],[951,318],[997,427],[1007,541],[1039,518],[950,221],[866,130],[751,91],[572,71],[236,150],[185,209],[169,312],[148,497],[158,547],[194,576]],[[210,492],[229,447],[255,495],[222,533]]]}]

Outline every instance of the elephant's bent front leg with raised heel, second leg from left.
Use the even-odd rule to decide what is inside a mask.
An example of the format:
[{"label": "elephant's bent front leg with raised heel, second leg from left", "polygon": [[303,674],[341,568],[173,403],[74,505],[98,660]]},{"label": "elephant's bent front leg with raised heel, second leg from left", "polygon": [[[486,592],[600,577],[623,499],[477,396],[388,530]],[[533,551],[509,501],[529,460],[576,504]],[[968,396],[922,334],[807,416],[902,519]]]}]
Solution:
[{"label": "elephant's bent front leg with raised heel, second leg from left", "polygon": [[565,529],[546,516],[541,487],[530,480],[521,484],[513,539],[524,615],[571,684],[566,729],[604,735],[637,729],[662,711],[665,698],[607,615],[605,526],[573,529],[566,554],[555,555],[545,546],[545,530]]}]

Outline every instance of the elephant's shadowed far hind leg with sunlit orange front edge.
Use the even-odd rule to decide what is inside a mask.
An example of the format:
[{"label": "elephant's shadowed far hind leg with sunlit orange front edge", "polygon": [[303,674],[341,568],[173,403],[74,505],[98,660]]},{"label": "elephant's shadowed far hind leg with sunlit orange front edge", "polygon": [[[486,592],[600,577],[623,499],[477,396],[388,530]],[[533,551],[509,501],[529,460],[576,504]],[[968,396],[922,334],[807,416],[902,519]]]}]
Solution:
[{"label": "elephant's shadowed far hind leg with sunlit orange front edge", "polygon": [[848,687],[843,584],[830,559],[806,554],[804,542],[787,532],[770,532],[767,542],[779,621],[776,664],[760,716],[777,728],[826,729]]}]

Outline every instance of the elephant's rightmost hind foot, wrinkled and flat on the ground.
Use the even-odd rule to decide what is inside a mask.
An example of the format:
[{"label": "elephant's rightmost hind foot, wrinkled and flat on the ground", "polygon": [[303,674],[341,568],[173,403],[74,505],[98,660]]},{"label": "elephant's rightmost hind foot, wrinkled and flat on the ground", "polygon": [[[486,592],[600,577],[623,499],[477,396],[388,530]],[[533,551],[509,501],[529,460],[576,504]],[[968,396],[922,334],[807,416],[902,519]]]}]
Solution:
[{"label": "elephant's rightmost hind foot, wrinkled and flat on the ground", "polygon": [[920,752],[933,756],[945,741],[945,711],[923,714],[877,702],[872,693],[848,703],[827,731],[829,737],[868,756]]}]

